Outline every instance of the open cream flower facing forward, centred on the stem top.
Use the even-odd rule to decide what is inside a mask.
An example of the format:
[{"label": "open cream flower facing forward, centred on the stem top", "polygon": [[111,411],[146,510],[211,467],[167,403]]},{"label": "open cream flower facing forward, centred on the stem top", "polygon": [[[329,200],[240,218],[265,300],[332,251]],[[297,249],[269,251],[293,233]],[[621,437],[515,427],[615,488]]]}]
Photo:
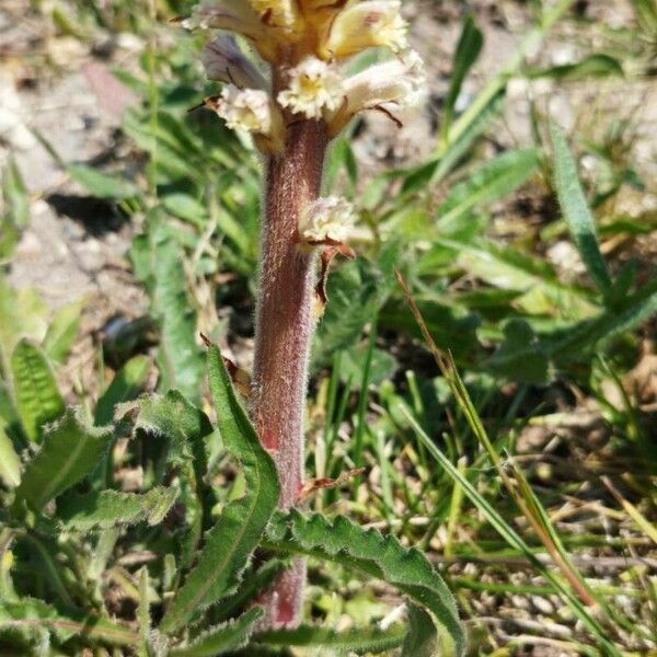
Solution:
[{"label": "open cream flower facing forward, centred on the stem top", "polygon": [[337,110],[343,101],[339,73],[312,56],[288,71],[288,88],[278,94],[278,102],[284,107],[306,118],[322,118],[325,111]]}]

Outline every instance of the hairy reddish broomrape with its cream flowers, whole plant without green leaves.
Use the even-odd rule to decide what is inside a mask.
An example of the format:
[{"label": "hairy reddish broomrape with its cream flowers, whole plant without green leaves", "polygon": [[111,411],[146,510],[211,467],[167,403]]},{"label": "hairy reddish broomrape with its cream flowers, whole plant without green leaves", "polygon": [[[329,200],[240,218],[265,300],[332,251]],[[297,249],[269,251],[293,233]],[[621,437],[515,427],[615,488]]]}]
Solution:
[{"label": "hairy reddish broomrape with its cream flowers, whole plant without green leaves", "polygon": [[[263,74],[224,33],[203,53],[208,78],[224,83],[205,104],[252,135],[266,158],[252,416],[278,468],[283,509],[303,488],[308,359],[328,263],[337,253],[354,255],[344,243],[351,206],[320,197],[326,147],[357,114],[391,114],[415,104],[425,87],[400,8],[396,0],[204,1],[183,21],[237,33],[268,68]],[[393,58],[347,74],[345,62],[372,47],[389,48]],[[278,579],[266,600],[272,626],[299,622],[304,579],[302,561]]]}]

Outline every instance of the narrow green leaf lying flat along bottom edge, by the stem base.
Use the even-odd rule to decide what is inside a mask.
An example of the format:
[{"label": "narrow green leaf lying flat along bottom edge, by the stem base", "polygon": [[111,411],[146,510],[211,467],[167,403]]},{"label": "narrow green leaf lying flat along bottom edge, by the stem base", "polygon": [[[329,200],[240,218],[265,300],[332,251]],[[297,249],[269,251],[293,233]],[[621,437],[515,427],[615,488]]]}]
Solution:
[{"label": "narrow green leaf lying flat along bottom edge, by the stem base", "polygon": [[328,648],[332,654],[364,655],[392,650],[402,645],[405,634],[406,631],[402,627],[354,627],[346,632],[337,632],[328,627],[301,625],[296,630],[263,632],[255,635],[253,642],[276,647]]}]

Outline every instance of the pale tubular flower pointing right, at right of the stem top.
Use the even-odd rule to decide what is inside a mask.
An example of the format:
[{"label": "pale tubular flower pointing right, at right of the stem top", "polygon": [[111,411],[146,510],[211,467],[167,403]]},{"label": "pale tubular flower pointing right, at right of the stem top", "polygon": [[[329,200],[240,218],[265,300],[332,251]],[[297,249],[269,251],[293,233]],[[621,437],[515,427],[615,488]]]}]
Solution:
[{"label": "pale tubular flower pointing right, at right of the stem top", "polygon": [[328,117],[330,134],[337,135],[359,112],[389,104],[417,105],[426,92],[420,56],[410,50],[399,59],[372,66],[344,81],[346,102]]}]

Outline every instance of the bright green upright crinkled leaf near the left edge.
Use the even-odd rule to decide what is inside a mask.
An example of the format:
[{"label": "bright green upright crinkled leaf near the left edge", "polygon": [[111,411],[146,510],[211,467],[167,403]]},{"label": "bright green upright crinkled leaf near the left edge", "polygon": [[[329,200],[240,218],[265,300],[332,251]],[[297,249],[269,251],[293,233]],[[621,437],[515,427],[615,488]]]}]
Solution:
[{"label": "bright green upright crinkled leaf near the left edge", "polygon": [[25,435],[32,441],[41,441],[44,425],[66,410],[55,374],[43,351],[26,339],[15,346],[11,369],[16,411]]}]

